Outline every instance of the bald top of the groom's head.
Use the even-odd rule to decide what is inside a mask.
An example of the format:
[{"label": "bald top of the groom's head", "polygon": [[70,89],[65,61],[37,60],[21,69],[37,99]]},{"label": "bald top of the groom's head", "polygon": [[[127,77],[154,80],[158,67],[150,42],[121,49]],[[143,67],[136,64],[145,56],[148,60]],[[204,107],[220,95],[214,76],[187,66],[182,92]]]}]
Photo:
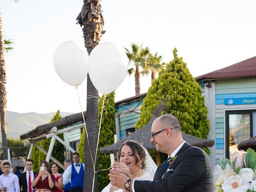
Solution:
[{"label": "bald top of the groom's head", "polygon": [[170,127],[173,130],[181,131],[180,122],[175,116],[170,114],[164,114],[158,118],[159,118],[158,123],[162,128]]}]

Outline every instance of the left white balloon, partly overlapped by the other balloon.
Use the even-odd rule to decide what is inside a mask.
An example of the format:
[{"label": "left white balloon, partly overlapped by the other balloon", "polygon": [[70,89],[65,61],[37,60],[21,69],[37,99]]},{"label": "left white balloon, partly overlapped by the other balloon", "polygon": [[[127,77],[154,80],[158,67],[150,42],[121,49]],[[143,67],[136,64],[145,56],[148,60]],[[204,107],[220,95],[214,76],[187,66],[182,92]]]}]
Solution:
[{"label": "left white balloon, partly overlapped by the other balloon", "polygon": [[81,50],[76,42],[66,41],[54,52],[54,68],[64,82],[77,86],[88,74],[88,57],[88,53]]}]

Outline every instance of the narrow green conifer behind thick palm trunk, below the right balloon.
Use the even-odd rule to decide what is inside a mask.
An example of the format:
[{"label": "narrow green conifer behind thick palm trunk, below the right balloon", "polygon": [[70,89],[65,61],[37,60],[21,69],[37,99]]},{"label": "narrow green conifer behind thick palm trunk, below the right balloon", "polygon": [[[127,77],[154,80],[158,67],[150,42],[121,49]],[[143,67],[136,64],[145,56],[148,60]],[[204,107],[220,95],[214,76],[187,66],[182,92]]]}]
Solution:
[{"label": "narrow green conifer behind thick palm trunk, below the right balloon", "polygon": [[[102,110],[102,96],[98,104],[98,126],[100,126],[100,115]],[[98,144],[98,170],[107,169],[110,167],[110,156],[100,153],[100,148],[106,147],[114,143],[114,134],[115,134],[115,103],[114,101],[115,92],[112,92],[107,95],[105,98],[105,104],[102,114],[102,122],[100,128],[100,138]],[[88,131],[88,130],[87,130]],[[83,129],[85,132],[85,129]],[[98,138],[97,138],[98,139]],[[81,135],[80,143],[78,144],[78,153],[80,154],[80,161],[83,162],[84,155],[84,134]],[[109,183],[108,171],[101,171],[98,174],[98,188],[101,191]]]}]

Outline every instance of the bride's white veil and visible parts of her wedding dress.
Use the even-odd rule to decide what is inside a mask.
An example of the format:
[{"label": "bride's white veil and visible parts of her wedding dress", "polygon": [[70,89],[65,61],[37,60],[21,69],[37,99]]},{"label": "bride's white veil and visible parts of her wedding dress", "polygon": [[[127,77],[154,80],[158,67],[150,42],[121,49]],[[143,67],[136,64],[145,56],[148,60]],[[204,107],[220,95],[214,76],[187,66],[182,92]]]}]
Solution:
[{"label": "bride's white veil and visible parts of her wedding dress", "polygon": [[[144,148],[144,147],[142,146],[142,148]],[[142,170],[144,172],[144,174],[140,177],[133,178],[133,180],[150,180],[150,181],[152,181],[154,178],[157,166],[156,166],[155,162],[152,160],[148,151],[145,148],[144,148],[144,150],[146,153],[146,160],[145,160],[146,168],[144,168]],[[109,183],[101,192],[110,192],[111,186],[112,185]],[[113,192],[122,192],[122,191],[123,191],[122,189],[118,189]]]}]

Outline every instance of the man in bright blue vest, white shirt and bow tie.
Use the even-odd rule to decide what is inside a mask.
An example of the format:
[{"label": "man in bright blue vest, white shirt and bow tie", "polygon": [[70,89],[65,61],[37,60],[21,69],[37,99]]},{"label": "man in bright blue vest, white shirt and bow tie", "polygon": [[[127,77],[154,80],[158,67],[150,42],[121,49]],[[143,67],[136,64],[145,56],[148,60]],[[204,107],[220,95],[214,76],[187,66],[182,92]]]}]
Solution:
[{"label": "man in bright blue vest, white shirt and bow tie", "polygon": [[74,163],[64,171],[63,185],[65,186],[71,181],[70,192],[82,192],[84,188],[84,164],[80,163],[78,152],[72,154]]}]

